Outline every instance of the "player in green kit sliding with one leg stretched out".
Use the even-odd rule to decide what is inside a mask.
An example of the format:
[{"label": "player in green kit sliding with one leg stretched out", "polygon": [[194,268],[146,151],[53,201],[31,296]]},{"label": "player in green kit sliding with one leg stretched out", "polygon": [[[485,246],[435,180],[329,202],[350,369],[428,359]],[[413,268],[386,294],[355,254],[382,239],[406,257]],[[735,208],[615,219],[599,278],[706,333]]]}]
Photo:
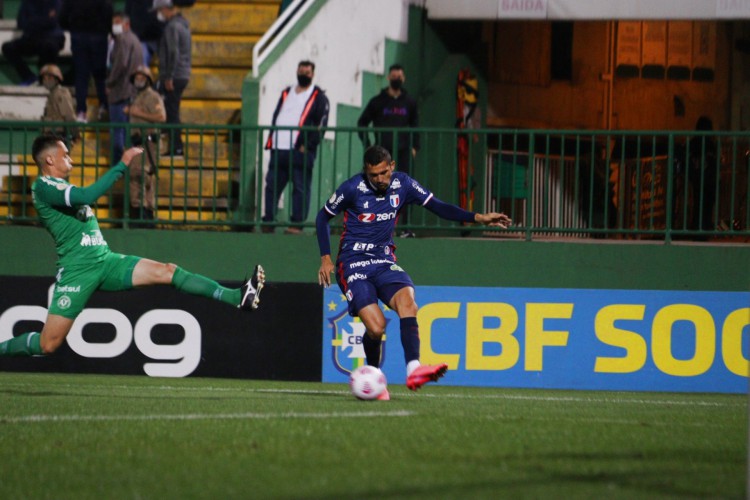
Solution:
[{"label": "player in green kit sliding with one leg stretched out", "polygon": [[55,240],[57,278],[42,331],[24,333],[0,342],[0,356],[54,352],[96,290],[172,285],[181,292],[212,298],[241,309],[258,307],[265,283],[265,272],[259,265],[240,288],[230,289],[175,264],[110,251],[90,205],[105,194],[123,176],[133,158],[142,153],[141,148],[128,149],[122,160],[99,180],[80,188],[67,180],[73,164],[62,140],[50,135],[34,140],[32,156],[39,167],[39,177],[31,191],[39,220]]}]

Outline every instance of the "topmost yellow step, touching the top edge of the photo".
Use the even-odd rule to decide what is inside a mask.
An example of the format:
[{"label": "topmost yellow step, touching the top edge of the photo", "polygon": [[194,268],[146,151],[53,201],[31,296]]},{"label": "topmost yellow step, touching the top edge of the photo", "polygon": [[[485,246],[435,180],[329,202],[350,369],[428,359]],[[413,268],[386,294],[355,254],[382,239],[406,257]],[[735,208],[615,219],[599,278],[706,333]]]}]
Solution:
[{"label": "topmost yellow step, touching the top edge of the photo", "polygon": [[193,35],[214,33],[224,35],[261,36],[276,20],[278,3],[268,2],[197,2],[185,9]]}]

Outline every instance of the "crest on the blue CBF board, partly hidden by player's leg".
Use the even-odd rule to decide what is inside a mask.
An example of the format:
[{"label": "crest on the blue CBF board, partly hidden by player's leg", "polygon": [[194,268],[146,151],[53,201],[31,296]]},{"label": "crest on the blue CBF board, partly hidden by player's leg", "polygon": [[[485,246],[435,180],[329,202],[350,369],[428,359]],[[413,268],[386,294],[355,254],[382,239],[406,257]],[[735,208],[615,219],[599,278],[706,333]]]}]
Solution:
[{"label": "crest on the blue CBF board, partly hidden by player's leg", "polygon": [[[333,364],[344,375],[366,364],[365,349],[362,346],[362,335],[365,334],[365,324],[358,318],[343,312],[328,317],[331,333],[331,348],[333,349]],[[385,362],[385,335],[381,347],[380,364]]]}]

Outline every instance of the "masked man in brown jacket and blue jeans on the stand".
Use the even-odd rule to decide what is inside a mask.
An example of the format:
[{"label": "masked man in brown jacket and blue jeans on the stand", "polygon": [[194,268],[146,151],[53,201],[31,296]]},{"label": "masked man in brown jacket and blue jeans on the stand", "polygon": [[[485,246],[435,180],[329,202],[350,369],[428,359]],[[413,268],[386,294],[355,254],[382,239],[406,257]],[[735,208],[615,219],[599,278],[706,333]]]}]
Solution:
[{"label": "masked man in brown jacket and blue jeans on the stand", "polygon": [[[110,57],[109,76],[107,77],[107,100],[109,101],[109,121],[125,123],[128,116],[125,107],[135,96],[135,87],[130,82],[132,75],[143,62],[141,42],[130,30],[130,18],[123,12],[112,15],[112,35],[114,45]],[[125,129],[117,127],[111,132],[112,163],[122,158],[125,150]]]}]

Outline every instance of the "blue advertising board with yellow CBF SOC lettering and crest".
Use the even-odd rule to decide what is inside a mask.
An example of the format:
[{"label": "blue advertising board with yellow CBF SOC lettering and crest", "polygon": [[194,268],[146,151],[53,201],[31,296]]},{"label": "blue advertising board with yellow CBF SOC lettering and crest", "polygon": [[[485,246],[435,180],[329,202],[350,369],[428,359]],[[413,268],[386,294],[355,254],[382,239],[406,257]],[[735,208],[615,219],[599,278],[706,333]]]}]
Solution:
[{"label": "blue advertising board with yellow CBF SOC lettering and crest", "polygon": [[[441,384],[546,389],[748,390],[750,292],[416,287],[423,364]],[[399,318],[382,369],[406,374]],[[323,381],[364,364],[359,318],[334,287],[323,295]]]}]

